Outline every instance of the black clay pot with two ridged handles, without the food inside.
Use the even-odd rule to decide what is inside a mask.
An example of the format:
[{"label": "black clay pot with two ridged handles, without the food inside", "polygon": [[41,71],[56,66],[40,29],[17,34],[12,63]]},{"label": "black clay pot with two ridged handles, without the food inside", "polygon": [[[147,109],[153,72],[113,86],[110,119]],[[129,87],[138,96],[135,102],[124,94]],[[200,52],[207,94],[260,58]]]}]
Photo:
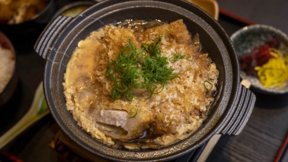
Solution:
[{"label": "black clay pot with two ridged handles, without the food inside", "polygon": [[[197,32],[219,70],[218,93],[205,123],[188,138],[159,150],[120,150],[92,138],[66,109],[64,73],[77,43],[104,25],[127,19],[172,22],[183,19]],[[233,44],[221,26],[200,8],[182,0],[106,0],[75,18],[57,17],[40,35],[36,52],[46,60],[44,93],[61,129],[85,150],[111,161],[168,161],[207,142],[214,134],[238,135],[254,107],[255,96],[240,84]]]}]

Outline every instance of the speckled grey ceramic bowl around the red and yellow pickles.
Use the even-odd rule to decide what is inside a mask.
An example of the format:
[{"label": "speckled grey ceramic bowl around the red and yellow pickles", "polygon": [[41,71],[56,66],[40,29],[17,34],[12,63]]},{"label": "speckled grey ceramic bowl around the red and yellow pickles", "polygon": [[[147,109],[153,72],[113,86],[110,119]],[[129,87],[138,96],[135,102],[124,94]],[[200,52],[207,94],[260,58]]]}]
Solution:
[{"label": "speckled grey ceramic bowl around the red and yellow pickles", "polygon": [[[284,56],[288,55],[288,36],[274,27],[267,25],[251,25],[234,32],[231,40],[235,46],[237,57],[250,52],[256,46],[261,46],[265,42],[276,39],[279,43],[279,50]],[[247,75],[244,71],[240,72],[241,79],[251,83],[251,90],[257,93],[279,95],[288,93],[288,81],[280,87],[265,88],[255,76]]]}]

